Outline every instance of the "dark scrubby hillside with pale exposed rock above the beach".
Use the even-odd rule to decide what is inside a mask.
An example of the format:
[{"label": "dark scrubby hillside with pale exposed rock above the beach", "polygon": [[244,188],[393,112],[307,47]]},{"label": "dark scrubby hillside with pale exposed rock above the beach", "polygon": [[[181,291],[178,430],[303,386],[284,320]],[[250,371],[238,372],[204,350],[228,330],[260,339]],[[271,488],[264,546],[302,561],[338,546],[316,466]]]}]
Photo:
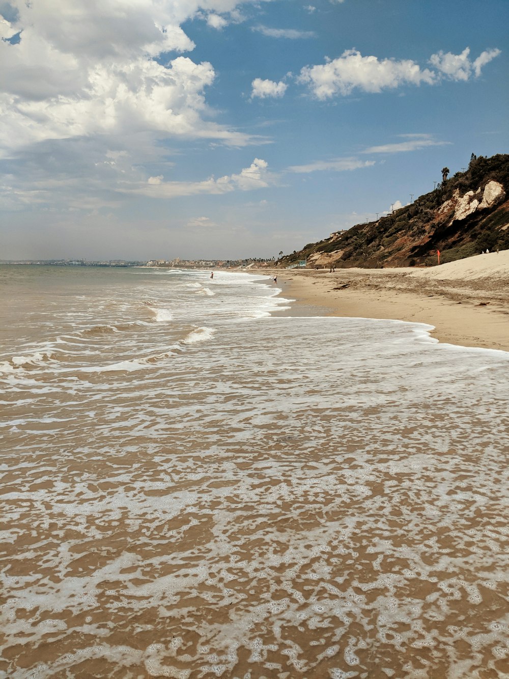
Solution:
[{"label": "dark scrubby hillside with pale exposed rock above the beach", "polygon": [[307,267],[383,268],[433,265],[489,249],[509,249],[509,155],[472,154],[468,170],[456,172],[411,205],[377,221],[353,226],[278,265],[307,259]]}]

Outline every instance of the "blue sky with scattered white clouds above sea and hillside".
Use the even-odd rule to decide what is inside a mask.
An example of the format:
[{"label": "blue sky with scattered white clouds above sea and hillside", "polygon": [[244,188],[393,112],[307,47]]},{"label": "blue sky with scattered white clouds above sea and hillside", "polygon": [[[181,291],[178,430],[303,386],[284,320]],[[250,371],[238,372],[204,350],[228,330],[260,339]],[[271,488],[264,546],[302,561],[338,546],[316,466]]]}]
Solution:
[{"label": "blue sky with scattered white clouds above sea and hillside", "polygon": [[509,152],[508,0],[0,0],[0,259],[278,257]]}]

